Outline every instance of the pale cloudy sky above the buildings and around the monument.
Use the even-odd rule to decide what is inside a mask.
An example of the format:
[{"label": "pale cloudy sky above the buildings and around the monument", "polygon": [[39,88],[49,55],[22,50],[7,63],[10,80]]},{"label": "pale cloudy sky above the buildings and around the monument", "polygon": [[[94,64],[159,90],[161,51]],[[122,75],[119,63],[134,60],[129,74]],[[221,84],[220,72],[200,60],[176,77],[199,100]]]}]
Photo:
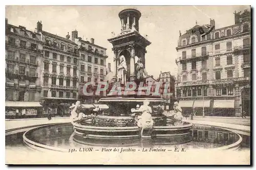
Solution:
[{"label": "pale cloudy sky above the buildings and around the monument", "polygon": [[[36,22],[42,22],[42,30],[66,37],[68,32],[78,31],[78,37],[107,48],[113,63],[111,32],[120,33],[118,13],[126,8],[141,12],[139,32],[147,35],[151,45],[146,47],[146,71],[158,78],[160,71],[170,71],[177,76],[177,42],[182,34],[196,25],[209,24],[215,19],[216,29],[234,24],[234,11],[244,11],[249,6],[6,6],[6,18],[15,26],[25,26],[34,31]],[[113,64],[112,64],[113,70]]]}]

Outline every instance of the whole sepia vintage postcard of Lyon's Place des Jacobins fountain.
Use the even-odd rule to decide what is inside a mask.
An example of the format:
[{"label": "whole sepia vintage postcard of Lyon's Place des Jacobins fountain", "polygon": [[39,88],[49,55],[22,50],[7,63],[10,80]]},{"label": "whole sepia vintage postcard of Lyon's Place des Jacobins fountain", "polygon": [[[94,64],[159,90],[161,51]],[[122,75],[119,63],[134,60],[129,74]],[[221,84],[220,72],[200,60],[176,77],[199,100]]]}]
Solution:
[{"label": "whole sepia vintage postcard of Lyon's Place des Jacobins fountain", "polygon": [[250,6],[6,6],[6,164],[250,165]]}]

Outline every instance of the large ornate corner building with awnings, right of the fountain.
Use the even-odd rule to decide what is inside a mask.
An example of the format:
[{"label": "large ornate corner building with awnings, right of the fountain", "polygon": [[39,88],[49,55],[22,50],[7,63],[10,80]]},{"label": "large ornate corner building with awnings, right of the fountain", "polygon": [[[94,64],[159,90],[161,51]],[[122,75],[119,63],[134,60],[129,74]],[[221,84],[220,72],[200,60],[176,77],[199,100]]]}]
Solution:
[{"label": "large ornate corner building with awnings, right of the fountain", "polygon": [[195,31],[204,27],[198,25],[180,34],[176,94],[185,112],[250,115],[250,12],[235,12],[234,18],[234,25],[206,36]]}]

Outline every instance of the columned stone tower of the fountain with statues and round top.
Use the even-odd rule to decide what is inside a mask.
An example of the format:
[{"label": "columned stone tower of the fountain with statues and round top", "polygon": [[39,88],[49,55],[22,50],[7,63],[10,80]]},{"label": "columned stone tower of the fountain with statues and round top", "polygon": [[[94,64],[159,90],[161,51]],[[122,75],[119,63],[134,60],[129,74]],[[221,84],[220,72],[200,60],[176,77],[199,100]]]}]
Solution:
[{"label": "columned stone tower of the fountain with statues and round top", "polygon": [[113,44],[114,52],[113,80],[120,81],[123,85],[127,81],[143,78],[139,71],[145,70],[146,46],[151,42],[139,33],[140,17],[141,13],[136,9],[124,9],[119,12],[121,33],[108,39]]}]

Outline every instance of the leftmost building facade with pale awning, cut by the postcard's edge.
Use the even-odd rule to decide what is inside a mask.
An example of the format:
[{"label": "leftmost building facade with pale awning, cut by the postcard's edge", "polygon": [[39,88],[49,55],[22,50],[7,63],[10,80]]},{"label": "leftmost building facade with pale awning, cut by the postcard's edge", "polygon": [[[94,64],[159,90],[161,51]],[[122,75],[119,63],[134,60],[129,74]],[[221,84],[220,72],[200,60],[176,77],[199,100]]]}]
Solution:
[{"label": "leftmost building facade with pale awning, cut by the postcard's edge", "polygon": [[32,117],[41,113],[41,35],[6,18],[6,116]]}]

